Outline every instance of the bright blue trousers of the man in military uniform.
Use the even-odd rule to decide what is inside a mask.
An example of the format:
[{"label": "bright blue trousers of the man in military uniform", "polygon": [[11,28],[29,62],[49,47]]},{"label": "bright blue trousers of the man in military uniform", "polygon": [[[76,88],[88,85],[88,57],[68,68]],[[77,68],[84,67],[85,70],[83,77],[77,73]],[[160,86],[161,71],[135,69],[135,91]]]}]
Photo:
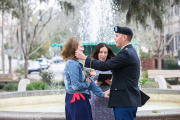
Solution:
[{"label": "bright blue trousers of the man in military uniform", "polygon": [[116,120],[135,120],[137,107],[116,107],[113,108]]}]

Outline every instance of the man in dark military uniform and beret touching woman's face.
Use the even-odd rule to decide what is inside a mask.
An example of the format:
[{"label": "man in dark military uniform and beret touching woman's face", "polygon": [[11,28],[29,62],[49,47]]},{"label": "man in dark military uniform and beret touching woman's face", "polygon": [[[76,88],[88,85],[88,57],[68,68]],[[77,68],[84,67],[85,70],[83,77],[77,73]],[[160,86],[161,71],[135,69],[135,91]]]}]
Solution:
[{"label": "man in dark military uniform and beret touching woman's face", "polygon": [[141,92],[138,87],[140,60],[131,45],[133,32],[128,27],[115,26],[115,42],[121,51],[116,57],[99,61],[76,51],[78,59],[85,60],[85,67],[113,73],[108,107],[113,108],[116,120],[135,120],[137,107],[142,106]]}]

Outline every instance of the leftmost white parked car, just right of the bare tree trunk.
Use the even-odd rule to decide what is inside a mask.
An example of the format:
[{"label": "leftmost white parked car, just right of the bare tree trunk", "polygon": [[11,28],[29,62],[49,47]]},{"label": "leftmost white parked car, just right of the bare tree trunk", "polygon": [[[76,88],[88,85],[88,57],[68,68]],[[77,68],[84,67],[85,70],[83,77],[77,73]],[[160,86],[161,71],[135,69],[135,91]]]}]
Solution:
[{"label": "leftmost white parked car, just right of the bare tree trunk", "polygon": [[28,74],[31,72],[37,72],[41,70],[41,66],[38,61],[29,62],[28,64]]}]

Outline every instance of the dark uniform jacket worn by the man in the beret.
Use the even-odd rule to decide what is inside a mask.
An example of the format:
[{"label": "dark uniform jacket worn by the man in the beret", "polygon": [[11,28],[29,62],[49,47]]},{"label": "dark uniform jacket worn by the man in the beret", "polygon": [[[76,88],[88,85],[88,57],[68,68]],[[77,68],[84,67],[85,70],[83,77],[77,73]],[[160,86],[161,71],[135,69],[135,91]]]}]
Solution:
[{"label": "dark uniform jacket worn by the man in the beret", "polygon": [[85,67],[113,73],[108,107],[140,107],[138,87],[140,60],[131,44],[125,46],[114,58],[105,62],[87,57]]}]

